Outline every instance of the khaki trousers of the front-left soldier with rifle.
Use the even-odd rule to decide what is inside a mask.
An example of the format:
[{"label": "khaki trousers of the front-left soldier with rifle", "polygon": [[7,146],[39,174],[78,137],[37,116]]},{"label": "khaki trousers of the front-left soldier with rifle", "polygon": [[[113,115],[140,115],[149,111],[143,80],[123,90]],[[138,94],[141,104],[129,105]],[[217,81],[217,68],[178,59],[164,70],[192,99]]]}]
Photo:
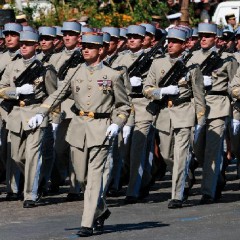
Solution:
[{"label": "khaki trousers of the front-left soldier with rifle", "polygon": [[34,131],[24,131],[20,133],[10,132],[11,156],[21,171],[24,173],[24,200],[37,198],[37,186],[41,179],[40,166],[42,162],[42,137],[44,128],[37,128]]}]

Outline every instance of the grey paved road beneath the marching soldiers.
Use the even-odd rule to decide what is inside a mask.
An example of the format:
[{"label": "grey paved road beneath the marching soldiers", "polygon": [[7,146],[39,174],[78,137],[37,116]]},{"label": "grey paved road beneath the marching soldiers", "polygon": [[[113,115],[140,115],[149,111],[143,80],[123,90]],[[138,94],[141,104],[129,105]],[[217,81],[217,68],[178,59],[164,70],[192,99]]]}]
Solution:
[{"label": "grey paved road beneath the marching soldiers", "polygon": [[[109,198],[112,215],[106,221],[106,231],[89,239],[239,240],[240,184],[235,168],[235,164],[228,168],[223,198],[212,205],[198,205],[200,171],[192,195],[182,209],[167,208],[169,175],[157,182],[150,196],[141,203],[123,205],[124,196]],[[21,201],[4,201],[4,185],[0,185],[0,190],[3,192],[0,195],[0,240],[78,239],[76,233],[83,201],[66,202],[66,187],[61,189],[60,195],[45,197],[34,209],[23,209]]]}]

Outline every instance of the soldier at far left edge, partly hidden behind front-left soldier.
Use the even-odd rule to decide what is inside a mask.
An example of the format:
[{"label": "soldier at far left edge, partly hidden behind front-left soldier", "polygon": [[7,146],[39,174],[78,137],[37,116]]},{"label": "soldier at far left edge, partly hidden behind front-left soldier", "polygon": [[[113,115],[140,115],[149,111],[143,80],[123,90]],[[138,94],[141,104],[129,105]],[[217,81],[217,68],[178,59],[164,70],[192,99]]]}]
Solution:
[{"label": "soldier at far left edge, partly hidden behind front-left soldier", "polygon": [[[6,23],[4,25],[3,34],[5,36],[6,51],[0,56],[0,71],[1,77],[12,61],[21,58],[20,54],[20,32],[22,26],[17,23]],[[6,166],[6,184],[7,184],[7,201],[17,201],[22,199],[22,180],[21,174],[16,163],[11,158],[11,140],[8,130],[6,129],[7,111],[0,107],[1,118],[3,120],[1,128],[1,142],[2,142],[2,161]]]}]

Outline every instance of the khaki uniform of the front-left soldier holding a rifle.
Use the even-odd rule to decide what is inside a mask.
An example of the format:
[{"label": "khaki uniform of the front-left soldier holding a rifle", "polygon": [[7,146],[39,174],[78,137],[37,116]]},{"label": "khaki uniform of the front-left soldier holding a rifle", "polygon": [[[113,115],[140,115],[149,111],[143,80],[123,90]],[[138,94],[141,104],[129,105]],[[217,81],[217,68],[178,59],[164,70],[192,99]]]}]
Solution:
[{"label": "khaki uniform of the front-left soldier holding a rifle", "polygon": [[[17,100],[15,79],[27,68],[33,59],[24,61],[16,60],[9,64],[0,82],[0,97],[8,100]],[[28,120],[37,112],[40,102],[57,87],[56,74],[51,68],[47,68],[43,75],[34,81],[34,91],[37,92],[33,102],[25,105],[25,101],[19,101],[7,116],[6,128],[10,131],[12,142],[11,157],[19,165],[25,175],[24,200],[36,200],[39,178],[38,162],[41,161],[41,138],[43,129],[32,132],[28,126]],[[26,95],[26,98],[28,96]],[[21,107],[20,107],[21,105]],[[25,105],[25,106],[24,106]],[[47,124],[47,119],[43,127]]]}]

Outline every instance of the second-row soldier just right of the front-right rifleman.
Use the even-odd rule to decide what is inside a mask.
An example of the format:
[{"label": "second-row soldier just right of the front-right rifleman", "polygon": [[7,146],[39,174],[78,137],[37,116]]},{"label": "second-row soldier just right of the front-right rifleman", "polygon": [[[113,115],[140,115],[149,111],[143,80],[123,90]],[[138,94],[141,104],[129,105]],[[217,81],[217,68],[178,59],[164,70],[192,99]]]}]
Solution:
[{"label": "second-row soldier just right of the front-right rifleman", "polygon": [[237,62],[229,53],[223,53],[217,58],[214,66],[204,63],[204,60],[216,51],[217,25],[200,23],[198,25],[201,49],[196,51],[191,59],[199,63],[201,70],[204,65],[211,67],[210,72],[203,72],[204,86],[207,89],[206,99],[206,129],[199,131],[195,137],[194,152],[198,161],[203,161],[202,198],[201,204],[213,203],[221,197],[225,182],[220,177],[220,167],[223,156],[223,141],[227,119],[230,114],[228,84],[233,78]]}]

